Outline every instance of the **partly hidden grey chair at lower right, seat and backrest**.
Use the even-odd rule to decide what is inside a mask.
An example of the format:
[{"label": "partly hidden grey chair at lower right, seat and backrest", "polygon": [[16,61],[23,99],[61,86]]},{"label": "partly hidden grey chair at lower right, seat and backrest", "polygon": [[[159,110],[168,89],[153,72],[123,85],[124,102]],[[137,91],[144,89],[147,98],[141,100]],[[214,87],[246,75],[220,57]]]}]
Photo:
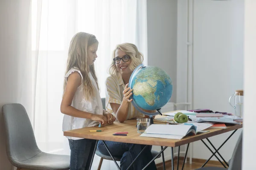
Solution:
[{"label": "partly hidden grey chair at lower right, seat and backrest", "polygon": [[234,148],[234,152],[232,154],[232,157],[229,161],[229,167],[202,167],[197,170],[241,170],[242,169],[242,141],[243,141],[243,134],[241,132],[237,142],[236,146]]}]

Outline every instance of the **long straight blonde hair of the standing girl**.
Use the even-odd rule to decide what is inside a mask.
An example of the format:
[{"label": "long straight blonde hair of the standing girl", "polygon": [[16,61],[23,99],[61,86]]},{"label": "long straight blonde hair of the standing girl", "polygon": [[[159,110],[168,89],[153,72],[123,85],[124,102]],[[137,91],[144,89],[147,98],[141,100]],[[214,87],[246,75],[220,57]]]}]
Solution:
[{"label": "long straight blonde hair of the standing girl", "polygon": [[[77,68],[82,74],[82,84],[84,86],[84,96],[86,100],[90,100],[90,97],[95,95],[95,90],[93,88],[93,83],[90,80],[89,72],[92,74],[96,81],[97,88],[99,90],[98,79],[96,77],[94,64],[88,64],[88,47],[94,43],[99,43],[96,37],[92,34],[85,32],[79,32],[75,34],[70,42],[70,47],[68,51],[67,58],[67,69],[66,73],[70,71],[71,68]],[[67,82],[64,81],[64,91]]]}]

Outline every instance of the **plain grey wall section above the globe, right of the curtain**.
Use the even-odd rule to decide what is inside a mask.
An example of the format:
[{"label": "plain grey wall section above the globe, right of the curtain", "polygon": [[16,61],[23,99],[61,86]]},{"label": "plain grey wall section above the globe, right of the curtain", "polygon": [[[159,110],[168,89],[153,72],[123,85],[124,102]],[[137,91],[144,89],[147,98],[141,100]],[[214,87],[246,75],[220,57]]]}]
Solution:
[{"label": "plain grey wall section above the globe, right of the curtain", "polygon": [[[148,65],[162,68],[177,79],[177,0],[147,0]],[[174,90],[171,102],[176,102]]]}]

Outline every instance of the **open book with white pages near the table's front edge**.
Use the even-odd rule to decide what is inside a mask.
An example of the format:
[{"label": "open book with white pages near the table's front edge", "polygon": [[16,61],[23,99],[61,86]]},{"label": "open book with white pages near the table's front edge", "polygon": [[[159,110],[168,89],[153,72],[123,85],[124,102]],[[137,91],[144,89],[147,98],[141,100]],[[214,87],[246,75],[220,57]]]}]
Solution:
[{"label": "open book with white pages near the table's front edge", "polygon": [[182,139],[185,136],[195,135],[196,126],[186,125],[161,125],[153,124],[150,125],[144,133],[140,136],[153,137],[153,138],[166,138],[166,139]]}]

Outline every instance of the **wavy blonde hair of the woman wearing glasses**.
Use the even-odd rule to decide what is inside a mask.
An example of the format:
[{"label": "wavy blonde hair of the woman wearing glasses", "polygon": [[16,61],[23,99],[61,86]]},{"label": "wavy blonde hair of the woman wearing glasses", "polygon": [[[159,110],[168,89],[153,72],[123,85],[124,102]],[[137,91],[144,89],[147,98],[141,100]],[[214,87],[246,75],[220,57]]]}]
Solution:
[{"label": "wavy blonde hair of the woman wearing glasses", "polygon": [[[117,49],[125,52],[125,54],[127,54],[128,56],[131,57],[131,63],[129,64],[129,69],[131,70],[131,72],[134,71],[134,69],[138,65],[142,64],[143,59],[144,59],[143,54],[138,50],[136,45],[134,45],[132,43],[128,43],[128,42],[116,45],[116,48],[113,51],[112,59],[115,58],[115,53],[116,53]],[[109,68],[109,74],[113,76],[118,73],[119,72],[116,68],[116,63],[113,61]]]}]

